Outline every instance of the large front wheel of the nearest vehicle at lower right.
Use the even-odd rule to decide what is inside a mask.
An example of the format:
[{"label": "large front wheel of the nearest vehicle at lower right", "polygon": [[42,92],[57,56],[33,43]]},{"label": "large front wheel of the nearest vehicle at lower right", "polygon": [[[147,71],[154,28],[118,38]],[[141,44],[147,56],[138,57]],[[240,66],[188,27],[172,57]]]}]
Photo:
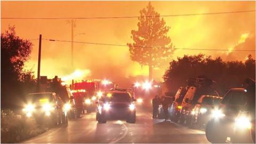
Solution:
[{"label": "large front wheel of the nearest vehicle at lower right", "polygon": [[211,119],[205,127],[205,135],[208,141],[211,143],[225,143],[227,140],[226,132],[220,130],[224,130],[223,126],[219,121],[215,121],[215,119]]}]

